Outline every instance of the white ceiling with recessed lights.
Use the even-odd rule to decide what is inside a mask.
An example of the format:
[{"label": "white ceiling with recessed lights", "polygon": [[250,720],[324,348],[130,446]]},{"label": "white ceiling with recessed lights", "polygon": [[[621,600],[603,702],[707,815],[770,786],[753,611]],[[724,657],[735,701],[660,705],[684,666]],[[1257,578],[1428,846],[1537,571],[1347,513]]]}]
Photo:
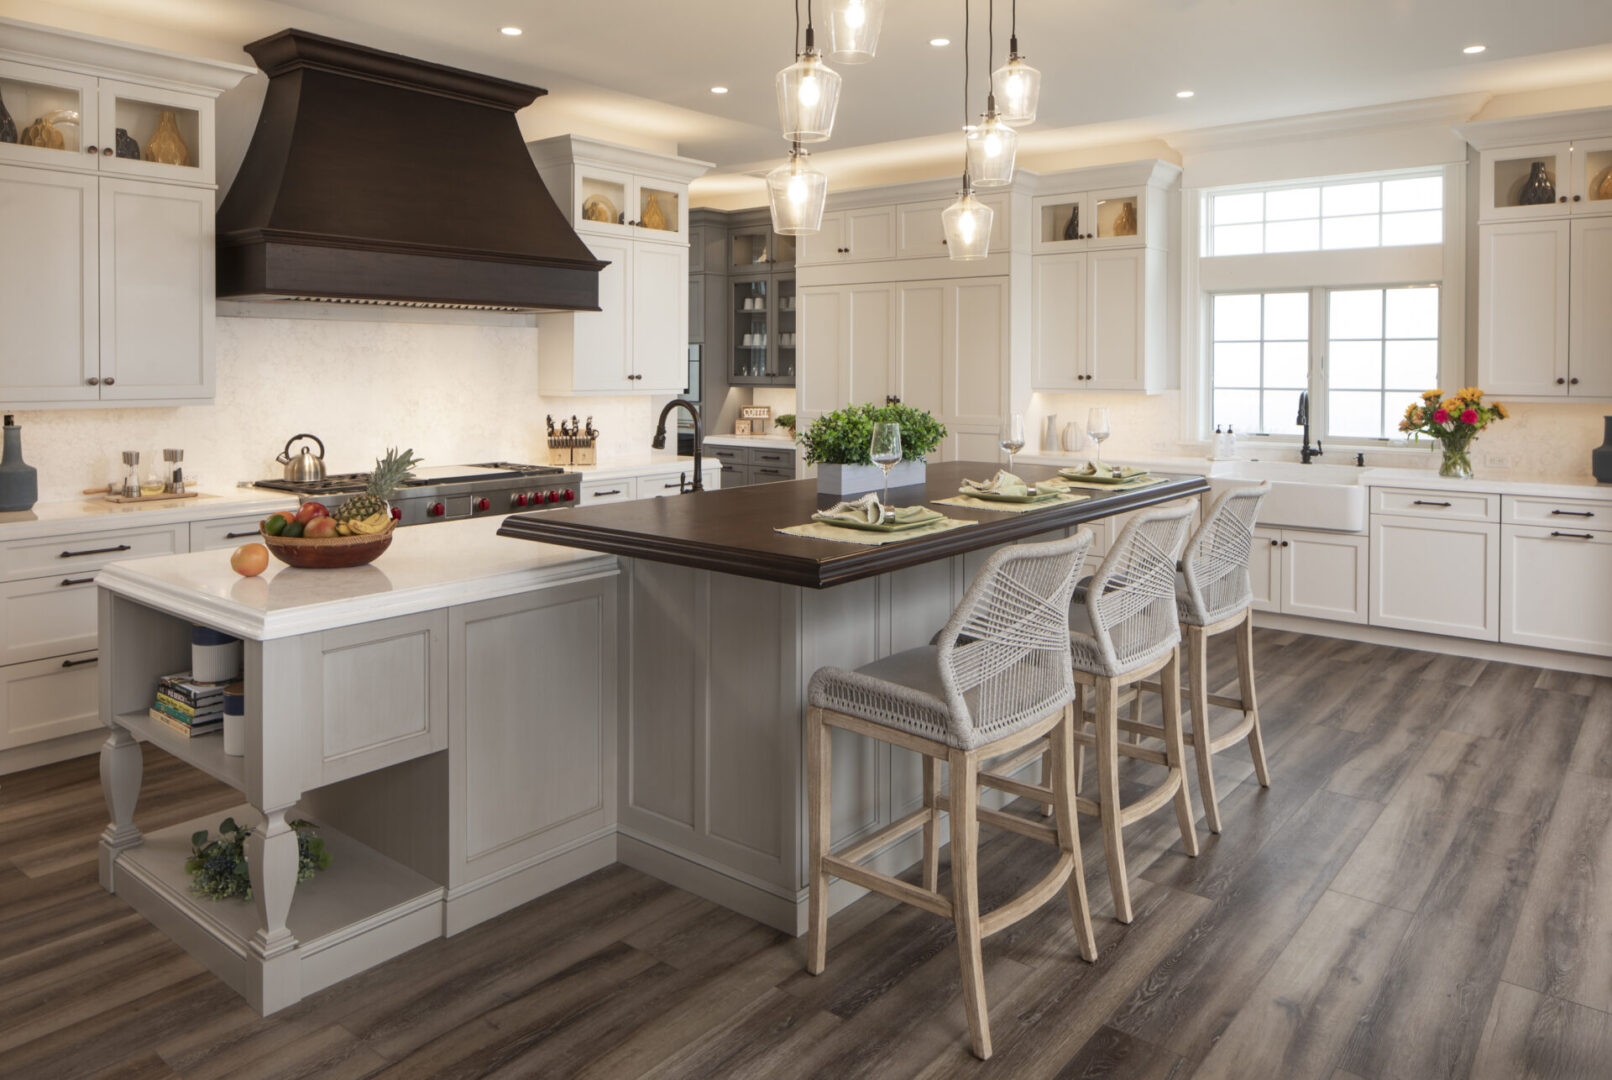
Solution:
[{"label": "white ceiling with recessed lights", "polygon": [[[987,0],[972,5],[978,111]],[[998,63],[1009,6],[996,2]],[[0,0],[0,11],[234,60],[239,44],[300,26],[545,85],[550,97],[522,116],[529,135],[587,124],[735,174],[785,152],[772,77],[793,52],[790,0]],[[526,32],[505,37],[506,24]],[[1019,31],[1045,79],[1027,148],[1045,155],[1444,93],[1612,82],[1612,0],[1020,0]],[[932,48],[937,35],[953,45]],[[879,58],[840,68],[835,137],[819,147],[830,174],[949,168],[962,37],[961,2],[888,0]],[[1460,52],[1475,42],[1488,52]],[[713,95],[717,84],[730,92]],[[1182,89],[1196,97],[1178,100]]]}]

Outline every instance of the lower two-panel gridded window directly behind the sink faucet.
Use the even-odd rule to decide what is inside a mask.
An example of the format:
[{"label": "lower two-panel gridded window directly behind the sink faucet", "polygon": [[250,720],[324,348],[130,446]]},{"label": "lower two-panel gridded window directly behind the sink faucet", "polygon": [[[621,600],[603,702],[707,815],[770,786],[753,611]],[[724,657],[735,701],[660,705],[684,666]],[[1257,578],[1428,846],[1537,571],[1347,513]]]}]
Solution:
[{"label": "lower two-panel gridded window directly behind the sink faucet", "polygon": [[1211,297],[1212,424],[1296,435],[1309,390],[1312,435],[1398,437],[1406,405],[1438,385],[1438,285]]}]

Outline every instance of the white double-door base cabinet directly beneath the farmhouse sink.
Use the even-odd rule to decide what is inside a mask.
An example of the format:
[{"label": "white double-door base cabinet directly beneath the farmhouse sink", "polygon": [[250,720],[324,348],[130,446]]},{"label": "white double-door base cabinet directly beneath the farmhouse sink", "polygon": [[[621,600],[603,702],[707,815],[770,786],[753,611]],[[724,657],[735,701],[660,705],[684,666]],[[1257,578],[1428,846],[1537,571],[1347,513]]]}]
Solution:
[{"label": "white double-door base cabinet directly beneath the farmhouse sink", "polygon": [[1367,537],[1304,529],[1256,529],[1249,553],[1254,611],[1365,622]]}]

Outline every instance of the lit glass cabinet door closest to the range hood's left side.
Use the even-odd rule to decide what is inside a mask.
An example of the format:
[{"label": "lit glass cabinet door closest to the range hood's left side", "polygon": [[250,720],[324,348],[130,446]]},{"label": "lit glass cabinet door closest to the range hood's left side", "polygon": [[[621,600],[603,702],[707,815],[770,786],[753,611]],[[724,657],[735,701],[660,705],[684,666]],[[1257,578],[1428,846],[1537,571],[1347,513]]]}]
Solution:
[{"label": "lit glass cabinet door closest to the range hood's left side", "polygon": [[213,103],[123,82],[100,85],[103,172],[211,184]]}]

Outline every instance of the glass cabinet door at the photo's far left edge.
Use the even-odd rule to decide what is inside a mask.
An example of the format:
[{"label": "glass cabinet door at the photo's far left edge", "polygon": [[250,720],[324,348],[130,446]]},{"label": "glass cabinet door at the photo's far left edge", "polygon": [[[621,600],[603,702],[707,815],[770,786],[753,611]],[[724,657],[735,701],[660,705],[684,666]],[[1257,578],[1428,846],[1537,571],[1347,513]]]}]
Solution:
[{"label": "glass cabinet door at the photo's far left edge", "polygon": [[0,160],[95,169],[95,79],[0,61]]}]

